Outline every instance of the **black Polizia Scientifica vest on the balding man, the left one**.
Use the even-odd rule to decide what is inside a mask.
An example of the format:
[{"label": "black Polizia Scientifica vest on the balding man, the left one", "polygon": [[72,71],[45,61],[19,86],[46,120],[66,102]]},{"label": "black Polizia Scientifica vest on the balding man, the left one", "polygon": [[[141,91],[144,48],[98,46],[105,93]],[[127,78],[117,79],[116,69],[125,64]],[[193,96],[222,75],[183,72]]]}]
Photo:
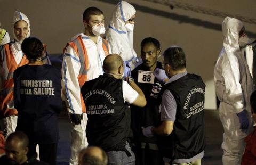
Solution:
[{"label": "black Polizia Scientifica vest on the balding man, the left one", "polygon": [[87,81],[81,88],[88,122],[89,145],[105,151],[124,151],[132,137],[131,112],[124,103],[122,80],[109,75]]}]

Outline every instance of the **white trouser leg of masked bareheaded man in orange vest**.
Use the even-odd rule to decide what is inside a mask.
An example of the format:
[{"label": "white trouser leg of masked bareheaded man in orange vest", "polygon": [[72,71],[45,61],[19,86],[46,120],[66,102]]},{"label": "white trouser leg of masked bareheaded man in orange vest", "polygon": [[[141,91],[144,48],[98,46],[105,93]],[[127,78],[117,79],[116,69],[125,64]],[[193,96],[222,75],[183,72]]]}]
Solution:
[{"label": "white trouser leg of masked bareheaded man in orange vest", "polygon": [[87,114],[83,113],[83,120],[81,120],[81,124],[74,125],[73,130],[71,131],[71,157],[69,160],[70,165],[78,164],[78,155],[79,152],[88,146],[87,137],[85,134],[85,129],[87,125]]}]

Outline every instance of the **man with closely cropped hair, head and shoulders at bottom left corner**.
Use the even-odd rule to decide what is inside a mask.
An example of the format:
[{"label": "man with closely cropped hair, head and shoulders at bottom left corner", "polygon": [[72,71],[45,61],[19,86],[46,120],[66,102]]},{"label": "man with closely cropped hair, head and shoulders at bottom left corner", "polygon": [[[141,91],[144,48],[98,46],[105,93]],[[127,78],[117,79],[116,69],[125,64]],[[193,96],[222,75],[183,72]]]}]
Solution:
[{"label": "man with closely cropped hair, head and shoulders at bottom left corner", "polygon": [[37,154],[28,158],[28,136],[21,131],[11,133],[6,139],[5,155],[0,158],[0,164],[37,164],[46,165],[42,161],[36,159]]}]

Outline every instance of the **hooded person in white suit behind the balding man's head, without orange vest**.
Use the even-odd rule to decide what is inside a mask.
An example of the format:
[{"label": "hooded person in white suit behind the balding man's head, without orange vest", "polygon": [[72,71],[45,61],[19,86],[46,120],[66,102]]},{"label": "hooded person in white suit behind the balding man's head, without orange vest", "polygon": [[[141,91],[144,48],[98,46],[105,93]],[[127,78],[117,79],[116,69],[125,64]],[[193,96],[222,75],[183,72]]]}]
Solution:
[{"label": "hooded person in white suit behind the balding man's head, without orange vest", "polygon": [[119,1],[112,13],[106,32],[106,39],[112,53],[119,54],[127,68],[124,74],[130,76],[139,60],[133,49],[133,29],[136,10],[126,1]]}]

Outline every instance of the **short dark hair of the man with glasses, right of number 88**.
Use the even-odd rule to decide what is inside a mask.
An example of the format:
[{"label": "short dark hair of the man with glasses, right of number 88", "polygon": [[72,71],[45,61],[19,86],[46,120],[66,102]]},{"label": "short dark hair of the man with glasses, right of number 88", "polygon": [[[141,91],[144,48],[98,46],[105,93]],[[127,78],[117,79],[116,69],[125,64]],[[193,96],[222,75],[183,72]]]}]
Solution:
[{"label": "short dark hair of the man with glasses, right of number 88", "polygon": [[186,56],[181,47],[169,47],[164,51],[163,56],[172,70],[177,71],[186,68]]}]

